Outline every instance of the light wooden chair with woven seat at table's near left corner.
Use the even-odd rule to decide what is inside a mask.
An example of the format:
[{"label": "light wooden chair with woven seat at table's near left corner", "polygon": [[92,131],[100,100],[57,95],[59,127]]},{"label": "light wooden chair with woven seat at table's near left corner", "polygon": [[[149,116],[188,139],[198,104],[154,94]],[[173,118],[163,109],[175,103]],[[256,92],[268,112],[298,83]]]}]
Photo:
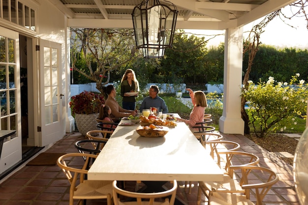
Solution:
[{"label": "light wooden chair with woven seat at table's near left corner", "polygon": [[[81,168],[77,168],[76,163],[70,163],[74,160],[80,162],[78,157],[86,157],[84,163],[81,164]],[[82,200],[88,199],[106,199],[107,205],[112,205],[112,181],[86,179],[90,160],[96,157],[97,155],[94,154],[69,153],[58,158],[57,165],[62,169],[70,183],[69,205],[73,205],[74,200],[79,200],[79,204]],[[74,166],[70,167],[68,164]]]}]

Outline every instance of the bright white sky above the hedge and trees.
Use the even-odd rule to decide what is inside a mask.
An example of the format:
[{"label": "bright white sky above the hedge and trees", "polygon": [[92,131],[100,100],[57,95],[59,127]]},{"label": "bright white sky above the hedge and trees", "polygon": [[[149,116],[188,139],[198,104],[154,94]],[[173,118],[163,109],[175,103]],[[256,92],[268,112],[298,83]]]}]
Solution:
[{"label": "bright white sky above the hedge and trees", "polygon": [[[290,14],[290,8],[286,7],[282,10],[285,14]],[[244,39],[246,39],[246,32],[250,31],[252,26],[257,24],[258,21],[252,22],[244,26]],[[264,45],[273,46],[275,48],[299,48],[299,49],[308,49],[308,28],[307,21],[304,17],[293,17],[291,20],[288,20],[289,25],[294,26],[295,28],[286,25],[280,18],[275,18],[272,20],[264,29],[265,31],[261,34],[260,40]],[[224,31],[221,30],[187,30],[186,32],[191,32],[194,34],[206,34],[206,35],[215,35],[215,34],[224,34]],[[201,36],[200,36],[201,37]],[[209,38],[205,36],[205,38]],[[224,35],[216,36],[214,39],[211,39],[207,46],[217,46],[220,42],[224,42]]]}]

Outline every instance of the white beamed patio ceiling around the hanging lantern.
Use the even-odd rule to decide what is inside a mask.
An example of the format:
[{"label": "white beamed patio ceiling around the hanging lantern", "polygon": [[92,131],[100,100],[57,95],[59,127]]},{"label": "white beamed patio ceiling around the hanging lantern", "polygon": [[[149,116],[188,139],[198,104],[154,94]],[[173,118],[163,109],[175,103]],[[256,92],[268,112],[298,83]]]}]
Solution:
[{"label": "white beamed patio ceiling around the hanging lantern", "polygon": [[[131,13],[142,0],[49,0],[68,18],[69,27],[132,28]],[[150,0],[151,1],[151,0]],[[176,28],[244,26],[295,0],[169,0],[178,8]],[[165,1],[160,0],[160,3]]]}]

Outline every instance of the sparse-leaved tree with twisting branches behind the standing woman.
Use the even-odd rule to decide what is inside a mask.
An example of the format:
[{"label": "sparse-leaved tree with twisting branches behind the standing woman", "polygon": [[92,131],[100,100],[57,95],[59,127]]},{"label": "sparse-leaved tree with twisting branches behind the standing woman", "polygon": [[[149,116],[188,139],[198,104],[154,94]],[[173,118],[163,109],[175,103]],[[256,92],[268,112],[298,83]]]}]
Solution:
[{"label": "sparse-leaved tree with twisting branches behind the standing woman", "polygon": [[139,54],[132,29],[71,28],[71,33],[72,69],[96,82],[103,94],[110,74]]}]

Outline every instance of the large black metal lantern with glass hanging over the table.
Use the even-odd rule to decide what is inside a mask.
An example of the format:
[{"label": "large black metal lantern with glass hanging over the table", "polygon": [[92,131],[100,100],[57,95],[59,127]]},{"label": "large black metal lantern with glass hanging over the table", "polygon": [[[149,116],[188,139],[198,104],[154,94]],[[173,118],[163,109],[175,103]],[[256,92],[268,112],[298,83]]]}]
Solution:
[{"label": "large black metal lantern with glass hanging over the table", "polygon": [[143,0],[131,14],[136,48],[142,49],[145,58],[161,58],[165,49],[172,46],[178,10],[166,2],[173,8],[159,0]]}]

